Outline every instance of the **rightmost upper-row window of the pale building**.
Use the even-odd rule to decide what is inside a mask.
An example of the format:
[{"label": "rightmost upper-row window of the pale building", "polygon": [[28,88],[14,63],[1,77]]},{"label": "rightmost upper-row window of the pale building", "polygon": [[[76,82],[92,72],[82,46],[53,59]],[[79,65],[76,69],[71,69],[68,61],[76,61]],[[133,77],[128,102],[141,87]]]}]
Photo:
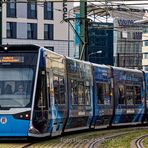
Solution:
[{"label": "rightmost upper-row window of the pale building", "polygon": [[53,20],[53,2],[44,3],[44,19]]}]

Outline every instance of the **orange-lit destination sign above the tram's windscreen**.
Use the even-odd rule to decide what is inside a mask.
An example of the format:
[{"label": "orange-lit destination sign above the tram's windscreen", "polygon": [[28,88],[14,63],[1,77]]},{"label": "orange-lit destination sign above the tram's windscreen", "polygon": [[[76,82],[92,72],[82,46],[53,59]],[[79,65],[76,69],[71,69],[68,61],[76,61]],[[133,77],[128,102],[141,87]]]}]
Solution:
[{"label": "orange-lit destination sign above the tram's windscreen", "polygon": [[0,63],[23,63],[24,57],[22,56],[2,56]]}]

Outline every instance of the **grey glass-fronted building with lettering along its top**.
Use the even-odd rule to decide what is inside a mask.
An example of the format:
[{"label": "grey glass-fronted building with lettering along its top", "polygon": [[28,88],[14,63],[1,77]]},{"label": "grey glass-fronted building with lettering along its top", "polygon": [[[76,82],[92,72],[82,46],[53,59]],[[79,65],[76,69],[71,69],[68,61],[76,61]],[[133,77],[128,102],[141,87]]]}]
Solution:
[{"label": "grey glass-fronted building with lettering along its top", "polygon": [[114,65],[142,69],[142,26],[134,19],[114,20]]}]

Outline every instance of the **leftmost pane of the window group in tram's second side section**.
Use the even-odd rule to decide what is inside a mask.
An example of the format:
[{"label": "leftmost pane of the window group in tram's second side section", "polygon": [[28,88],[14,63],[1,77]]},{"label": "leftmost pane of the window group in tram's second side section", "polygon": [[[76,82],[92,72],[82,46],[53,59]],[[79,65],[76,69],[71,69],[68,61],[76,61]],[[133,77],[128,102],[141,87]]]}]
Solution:
[{"label": "leftmost pane of the window group in tram's second side section", "polygon": [[78,104],[78,83],[76,80],[71,80],[71,98],[72,104]]}]

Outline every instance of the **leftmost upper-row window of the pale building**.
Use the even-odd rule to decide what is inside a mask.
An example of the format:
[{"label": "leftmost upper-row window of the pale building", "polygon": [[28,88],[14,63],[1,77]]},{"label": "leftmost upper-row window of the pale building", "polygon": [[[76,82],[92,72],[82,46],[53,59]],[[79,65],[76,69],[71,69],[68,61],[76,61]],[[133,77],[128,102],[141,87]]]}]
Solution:
[{"label": "leftmost upper-row window of the pale building", "polygon": [[7,17],[16,17],[16,2],[15,0],[7,1]]}]

